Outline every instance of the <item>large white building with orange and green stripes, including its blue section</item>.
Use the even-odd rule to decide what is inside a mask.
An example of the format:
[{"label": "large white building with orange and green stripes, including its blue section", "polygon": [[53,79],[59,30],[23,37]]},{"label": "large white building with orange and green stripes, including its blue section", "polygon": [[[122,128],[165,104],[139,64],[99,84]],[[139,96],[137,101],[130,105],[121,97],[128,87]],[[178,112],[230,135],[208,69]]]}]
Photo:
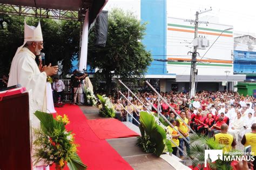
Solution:
[{"label": "large white building with orange and green stripes, including its blue section", "polygon": [[[185,22],[185,18],[167,17],[166,0],[109,0],[104,10],[114,7],[130,10],[142,22],[148,23],[142,43],[151,51],[154,61],[145,77],[159,79],[160,91],[170,91],[173,87],[178,87],[179,91],[189,91],[191,54],[188,52],[193,52],[193,23]],[[197,51],[196,91],[223,91],[227,80],[229,89],[233,90],[235,82],[245,79],[244,75],[233,74],[234,39],[232,30],[224,31],[228,28],[232,28],[232,25],[199,25],[198,35],[208,39],[210,46],[217,40],[210,50],[207,47]]]}]

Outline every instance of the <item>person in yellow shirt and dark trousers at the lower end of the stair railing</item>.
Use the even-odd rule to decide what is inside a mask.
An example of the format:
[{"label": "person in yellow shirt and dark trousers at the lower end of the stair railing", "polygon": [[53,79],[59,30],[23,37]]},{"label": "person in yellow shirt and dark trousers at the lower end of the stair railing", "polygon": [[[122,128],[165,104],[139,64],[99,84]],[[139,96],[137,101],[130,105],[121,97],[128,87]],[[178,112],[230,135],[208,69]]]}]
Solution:
[{"label": "person in yellow shirt and dark trousers at the lower end of the stair railing", "polygon": [[[187,127],[188,125],[188,119],[186,118],[186,113],[185,111],[181,111],[180,112],[180,117],[181,119],[183,119],[183,121],[185,121],[186,124],[184,124],[184,122],[181,119],[177,119],[179,122],[179,125],[177,125],[179,132],[187,139],[188,142],[186,142],[183,137],[179,137],[179,148],[184,151],[183,145],[185,142],[185,146],[186,146],[186,151],[188,156],[190,155],[190,138],[188,137],[189,134],[189,128]],[[180,159],[184,159],[183,153],[181,151],[179,151],[179,155],[180,155]]]}]

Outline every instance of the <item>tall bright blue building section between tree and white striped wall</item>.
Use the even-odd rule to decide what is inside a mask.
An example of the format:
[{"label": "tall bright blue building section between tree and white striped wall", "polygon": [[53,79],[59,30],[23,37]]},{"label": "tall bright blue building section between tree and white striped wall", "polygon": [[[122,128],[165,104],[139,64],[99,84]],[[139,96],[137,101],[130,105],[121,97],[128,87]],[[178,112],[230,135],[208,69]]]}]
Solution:
[{"label": "tall bright blue building section between tree and white striped wall", "polygon": [[[147,22],[146,36],[142,43],[151,52],[153,59],[166,59],[166,14],[166,0],[140,1],[140,19]],[[166,64],[154,60],[146,74],[168,74]]]}]

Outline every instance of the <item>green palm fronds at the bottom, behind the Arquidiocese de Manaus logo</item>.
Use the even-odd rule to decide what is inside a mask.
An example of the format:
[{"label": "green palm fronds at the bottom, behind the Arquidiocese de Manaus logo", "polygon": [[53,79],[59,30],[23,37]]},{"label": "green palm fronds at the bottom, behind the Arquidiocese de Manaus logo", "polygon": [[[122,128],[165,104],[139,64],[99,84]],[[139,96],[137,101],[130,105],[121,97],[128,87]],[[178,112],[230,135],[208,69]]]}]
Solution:
[{"label": "green palm fronds at the bottom, behind the Arquidiocese de Manaus logo", "polygon": [[[224,145],[219,144],[214,138],[206,137],[201,134],[191,134],[190,135],[190,150],[191,157],[193,157],[192,166],[197,167],[199,169],[204,169],[204,159],[205,159],[205,149],[223,149]],[[231,156],[231,155],[239,155],[241,151],[232,150],[231,152],[224,153],[223,155]],[[222,170],[231,170],[233,167],[231,166],[232,161],[227,160],[216,160],[214,162],[208,162],[208,167],[211,169],[222,169]]]}]

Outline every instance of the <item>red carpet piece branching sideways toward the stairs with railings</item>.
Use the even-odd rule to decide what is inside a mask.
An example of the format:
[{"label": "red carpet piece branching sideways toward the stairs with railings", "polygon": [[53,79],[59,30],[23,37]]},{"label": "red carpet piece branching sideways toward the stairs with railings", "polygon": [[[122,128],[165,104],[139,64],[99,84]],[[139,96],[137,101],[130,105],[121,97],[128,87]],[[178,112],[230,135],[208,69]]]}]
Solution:
[{"label": "red carpet piece branching sideways toward the stairs with railings", "polygon": [[99,139],[137,137],[138,134],[117,119],[87,120],[88,125]]}]

